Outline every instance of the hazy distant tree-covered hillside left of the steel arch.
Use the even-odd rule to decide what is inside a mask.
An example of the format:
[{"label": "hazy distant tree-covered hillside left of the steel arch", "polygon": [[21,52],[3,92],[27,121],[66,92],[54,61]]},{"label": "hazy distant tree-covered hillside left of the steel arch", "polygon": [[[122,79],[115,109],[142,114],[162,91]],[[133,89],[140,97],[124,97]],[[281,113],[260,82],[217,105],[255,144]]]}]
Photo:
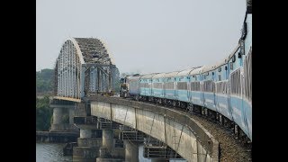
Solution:
[{"label": "hazy distant tree-covered hillside left of the steel arch", "polygon": [[54,69],[36,71],[36,95],[53,94]]}]

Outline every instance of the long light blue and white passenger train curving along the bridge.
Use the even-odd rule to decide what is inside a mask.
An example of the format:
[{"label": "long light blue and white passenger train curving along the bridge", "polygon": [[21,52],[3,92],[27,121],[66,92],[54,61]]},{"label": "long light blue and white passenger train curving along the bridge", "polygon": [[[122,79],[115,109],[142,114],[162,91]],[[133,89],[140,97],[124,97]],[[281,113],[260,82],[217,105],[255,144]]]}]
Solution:
[{"label": "long light blue and white passenger train curving along the bridge", "polygon": [[198,112],[252,142],[252,9],[237,47],[213,65],[121,78],[121,96]]}]

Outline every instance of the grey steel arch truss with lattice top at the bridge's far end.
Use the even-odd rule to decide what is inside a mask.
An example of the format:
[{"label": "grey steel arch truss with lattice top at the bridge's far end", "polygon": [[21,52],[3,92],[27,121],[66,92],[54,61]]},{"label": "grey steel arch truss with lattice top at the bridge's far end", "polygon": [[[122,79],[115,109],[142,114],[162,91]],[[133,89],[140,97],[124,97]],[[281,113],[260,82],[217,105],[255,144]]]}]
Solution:
[{"label": "grey steel arch truss with lattice top at the bridge's far end", "polygon": [[114,91],[119,70],[103,42],[71,38],[64,42],[55,65],[55,97],[80,102],[87,94]]}]

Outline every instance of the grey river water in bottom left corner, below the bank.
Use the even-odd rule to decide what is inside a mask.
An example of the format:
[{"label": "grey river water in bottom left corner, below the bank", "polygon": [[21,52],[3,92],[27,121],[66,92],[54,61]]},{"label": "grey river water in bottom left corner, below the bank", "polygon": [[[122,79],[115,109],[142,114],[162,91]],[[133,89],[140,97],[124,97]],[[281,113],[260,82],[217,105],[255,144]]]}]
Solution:
[{"label": "grey river water in bottom left corner, below the bank", "polygon": [[36,162],[72,161],[63,156],[65,143],[36,143]]}]

